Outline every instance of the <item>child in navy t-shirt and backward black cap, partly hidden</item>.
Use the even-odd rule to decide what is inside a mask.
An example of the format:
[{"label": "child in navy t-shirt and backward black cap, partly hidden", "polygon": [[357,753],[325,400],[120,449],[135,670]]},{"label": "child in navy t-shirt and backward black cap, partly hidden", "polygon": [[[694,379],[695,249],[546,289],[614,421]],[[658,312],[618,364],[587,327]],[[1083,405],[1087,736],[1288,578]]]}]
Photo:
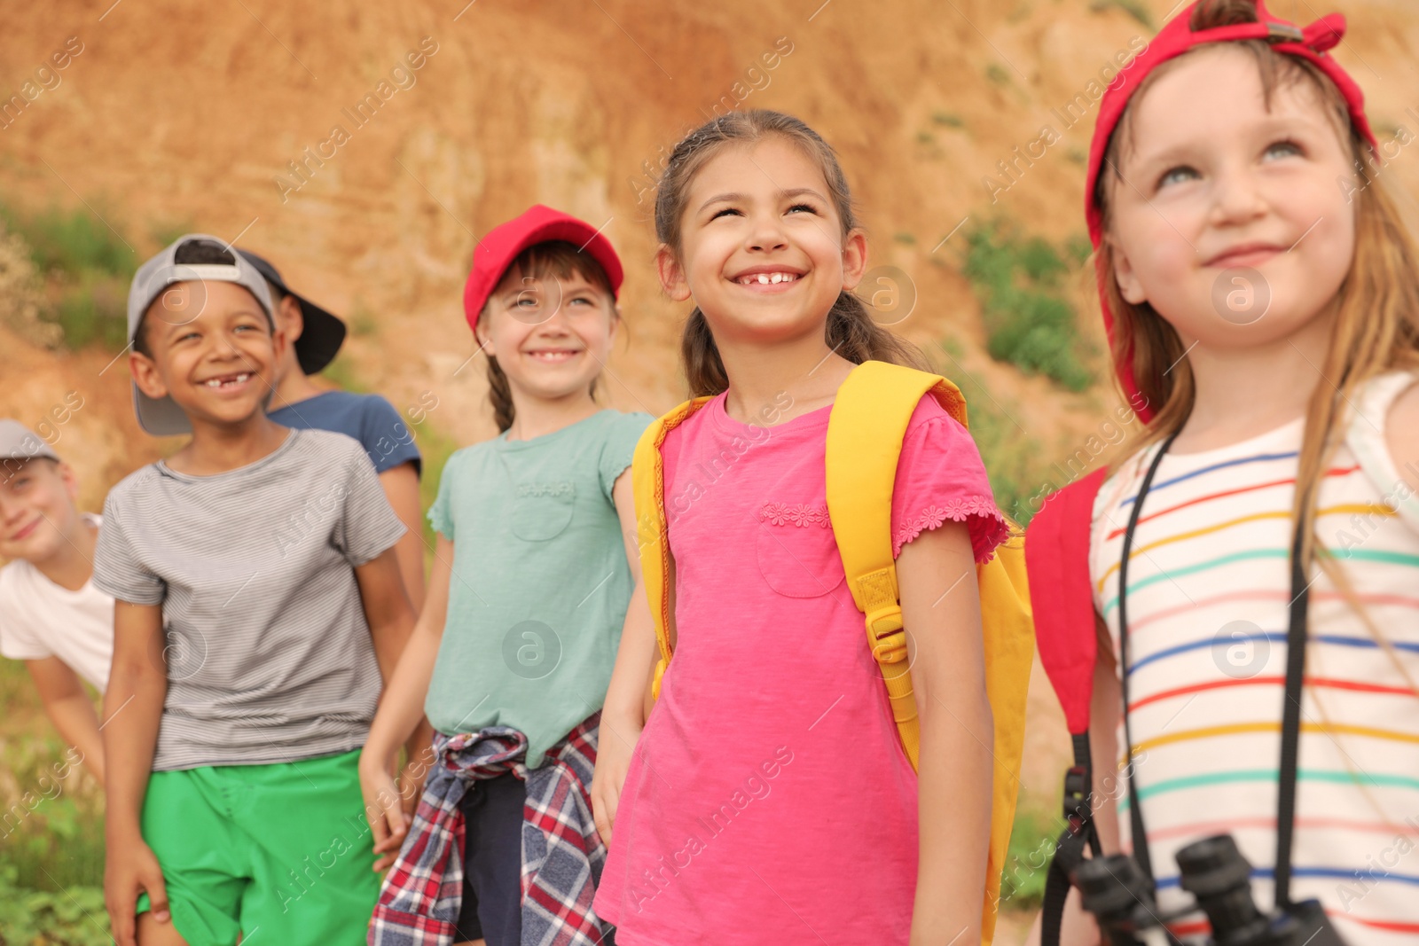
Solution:
[{"label": "child in navy t-shirt and backward black cap, partly hidden", "polygon": [[[297,295],[263,257],[237,248],[257,268],[271,291],[277,329],[285,336],[285,353],[275,367],[275,394],[267,417],[282,427],[333,430],[358,440],[375,464],[379,485],[399,519],[409,528],[394,545],[399,572],[414,611],[424,601],[424,549],[420,540],[419,474],[421,458],[414,433],[394,406],[379,394],[353,394],[312,383],[345,340],[345,323],[309,299]],[[427,410],[427,399],[420,407]],[[434,406],[437,406],[434,400]]]}]

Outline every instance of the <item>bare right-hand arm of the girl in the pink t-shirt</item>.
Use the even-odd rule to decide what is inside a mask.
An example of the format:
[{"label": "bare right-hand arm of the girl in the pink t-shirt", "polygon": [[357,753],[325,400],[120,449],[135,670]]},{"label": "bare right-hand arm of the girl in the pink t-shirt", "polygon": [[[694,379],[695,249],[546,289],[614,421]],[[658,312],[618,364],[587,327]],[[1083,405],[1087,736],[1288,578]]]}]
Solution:
[{"label": "bare right-hand arm of the girl in the pink t-shirt", "polygon": [[921,718],[920,859],[911,943],[981,942],[995,729],[965,523],[922,532],[897,560]]}]

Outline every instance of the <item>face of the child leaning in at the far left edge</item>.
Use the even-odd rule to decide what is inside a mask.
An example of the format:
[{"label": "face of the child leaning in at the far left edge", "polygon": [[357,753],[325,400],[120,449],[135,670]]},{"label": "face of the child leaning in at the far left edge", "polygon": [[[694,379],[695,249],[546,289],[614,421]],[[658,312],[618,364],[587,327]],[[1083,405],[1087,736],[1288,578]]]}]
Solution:
[{"label": "face of the child leaning in at the far left edge", "polygon": [[44,562],[75,528],[78,479],[47,458],[0,464],[0,559]]}]

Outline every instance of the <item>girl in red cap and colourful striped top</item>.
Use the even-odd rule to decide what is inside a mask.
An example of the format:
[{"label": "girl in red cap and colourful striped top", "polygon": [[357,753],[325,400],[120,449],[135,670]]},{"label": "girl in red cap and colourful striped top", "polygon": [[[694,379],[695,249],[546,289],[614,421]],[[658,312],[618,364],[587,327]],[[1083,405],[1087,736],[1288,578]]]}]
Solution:
[{"label": "girl in red cap and colourful striped top", "polygon": [[[1091,509],[1073,624],[1101,635],[1086,745],[1127,786],[1094,823],[1198,942],[1178,852],[1219,834],[1261,909],[1419,937],[1419,243],[1342,37],[1253,0],[1181,10],[1110,85],[1088,165],[1114,370],[1148,423],[1069,486]],[[1063,590],[1032,587],[1034,613]]]}]

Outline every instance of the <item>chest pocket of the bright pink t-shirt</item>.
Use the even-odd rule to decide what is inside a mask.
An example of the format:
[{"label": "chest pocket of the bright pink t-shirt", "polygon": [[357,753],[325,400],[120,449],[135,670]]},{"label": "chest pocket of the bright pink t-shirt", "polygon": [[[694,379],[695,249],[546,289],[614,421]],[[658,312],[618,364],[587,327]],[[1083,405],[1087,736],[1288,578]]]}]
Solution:
[{"label": "chest pocket of the bright pink t-shirt", "polygon": [[756,511],[755,555],[771,589],[792,599],[822,597],[843,583],[826,505],[766,502]]}]

